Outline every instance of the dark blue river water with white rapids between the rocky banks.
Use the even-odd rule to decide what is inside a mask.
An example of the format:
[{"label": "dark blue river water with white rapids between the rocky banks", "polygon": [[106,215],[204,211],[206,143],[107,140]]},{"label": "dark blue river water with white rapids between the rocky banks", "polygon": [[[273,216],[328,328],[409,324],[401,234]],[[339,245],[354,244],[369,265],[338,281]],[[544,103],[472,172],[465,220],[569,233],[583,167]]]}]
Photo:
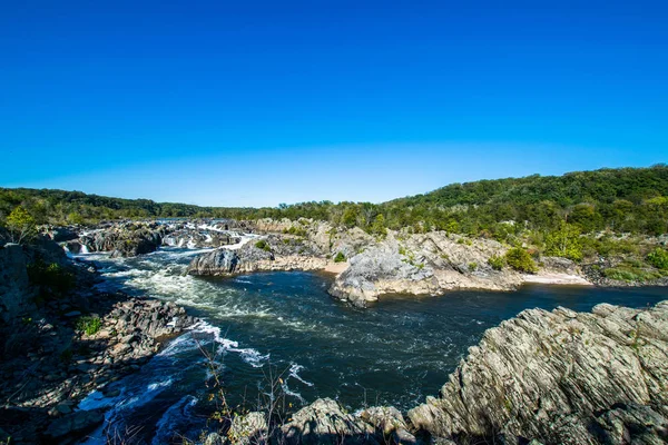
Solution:
[{"label": "dark blue river water with white rapids between the rocky banks", "polygon": [[[200,250],[202,251],[202,250]],[[514,293],[461,291],[442,297],[391,296],[366,308],[335,300],[332,277],[267,273],[227,279],[185,275],[197,250],[164,248],[137,258],[84,255],[106,278],[100,288],[175,301],[205,320],[171,340],[140,372],[112,384],[115,397],[91,394],[80,408],[107,407],[105,434],[131,432],[146,443],[195,438],[212,406],[206,359],[222,364],[230,405],[253,409],[278,386],[294,408],[318,397],[351,411],[376,404],[407,409],[436,395],[485,329],[523,309],[599,303],[632,307],[668,298],[665,288],[527,286]]]}]

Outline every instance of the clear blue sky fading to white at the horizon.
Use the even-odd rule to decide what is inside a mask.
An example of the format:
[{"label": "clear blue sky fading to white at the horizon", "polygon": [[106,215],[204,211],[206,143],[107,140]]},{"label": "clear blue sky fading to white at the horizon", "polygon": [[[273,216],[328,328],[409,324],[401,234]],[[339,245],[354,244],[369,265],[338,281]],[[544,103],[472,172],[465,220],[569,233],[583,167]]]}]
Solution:
[{"label": "clear blue sky fading to white at the horizon", "polygon": [[382,201],[668,161],[665,1],[13,1],[0,186]]}]

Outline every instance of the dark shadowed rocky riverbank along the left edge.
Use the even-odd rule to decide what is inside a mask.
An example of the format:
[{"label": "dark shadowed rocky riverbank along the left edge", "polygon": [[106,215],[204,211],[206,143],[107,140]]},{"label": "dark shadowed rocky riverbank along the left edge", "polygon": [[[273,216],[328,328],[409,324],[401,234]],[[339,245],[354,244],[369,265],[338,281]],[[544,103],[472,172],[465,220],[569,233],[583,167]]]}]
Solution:
[{"label": "dark shadowed rocky riverbank along the left edge", "polygon": [[[196,322],[170,303],[96,290],[92,265],[50,243],[0,247],[3,285],[12,288],[0,328],[0,439],[12,444],[65,444],[96,428],[102,412],[77,411],[78,403],[139,370]],[[51,266],[36,275],[27,267],[35,258]],[[56,291],[57,283],[67,288]]]}]

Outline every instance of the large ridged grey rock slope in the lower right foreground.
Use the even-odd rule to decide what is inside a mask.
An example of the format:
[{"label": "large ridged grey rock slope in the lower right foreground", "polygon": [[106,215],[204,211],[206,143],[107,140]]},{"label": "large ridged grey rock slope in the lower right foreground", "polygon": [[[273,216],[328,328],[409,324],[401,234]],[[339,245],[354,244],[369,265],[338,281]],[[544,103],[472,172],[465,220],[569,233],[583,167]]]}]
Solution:
[{"label": "large ridged grey rock slope in the lower right foreground", "polygon": [[668,301],[530,309],[489,329],[439,398],[409,412],[434,437],[560,444],[666,441]]}]

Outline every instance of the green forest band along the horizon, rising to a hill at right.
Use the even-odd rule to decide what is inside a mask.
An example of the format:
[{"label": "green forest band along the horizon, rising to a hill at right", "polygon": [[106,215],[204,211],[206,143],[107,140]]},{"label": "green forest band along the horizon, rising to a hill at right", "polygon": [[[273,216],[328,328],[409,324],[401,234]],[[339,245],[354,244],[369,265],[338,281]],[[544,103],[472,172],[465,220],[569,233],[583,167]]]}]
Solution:
[{"label": "green forest band along the horizon, rising to a hill at right", "polygon": [[119,218],[314,218],[367,231],[409,227],[504,238],[509,231],[668,233],[668,166],[601,169],[452,184],[383,204],[312,201],[274,208],[199,207],[119,199],[80,191],[0,188],[0,222],[22,206],[38,224]]}]

